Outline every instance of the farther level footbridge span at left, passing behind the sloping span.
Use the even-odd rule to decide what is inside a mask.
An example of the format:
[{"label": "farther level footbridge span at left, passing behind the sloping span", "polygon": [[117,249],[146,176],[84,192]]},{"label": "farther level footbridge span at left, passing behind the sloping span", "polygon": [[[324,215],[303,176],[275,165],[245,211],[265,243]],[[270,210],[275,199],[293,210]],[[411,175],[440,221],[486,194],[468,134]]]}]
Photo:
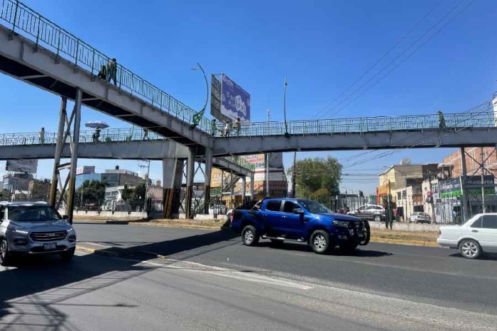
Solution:
[{"label": "farther level footbridge span at left, passing behind the sloping span", "polygon": [[[99,141],[94,142],[93,130],[80,131],[78,157],[88,159],[187,159],[188,147],[155,133],[144,139],[143,131],[136,128],[102,130]],[[70,157],[70,138],[62,151],[62,157]],[[0,160],[6,159],[53,159],[57,133],[0,134]],[[205,162],[198,157],[197,162]],[[213,157],[212,167],[233,172],[235,176],[251,177],[254,166],[241,157]]]}]

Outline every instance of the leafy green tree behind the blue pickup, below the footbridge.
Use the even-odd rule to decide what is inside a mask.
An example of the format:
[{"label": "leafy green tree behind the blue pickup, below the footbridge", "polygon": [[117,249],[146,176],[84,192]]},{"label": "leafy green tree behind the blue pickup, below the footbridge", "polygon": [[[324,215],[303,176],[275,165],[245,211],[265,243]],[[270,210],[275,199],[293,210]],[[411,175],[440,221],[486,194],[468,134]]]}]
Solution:
[{"label": "leafy green tree behind the blue pickup, below the footbridge", "polygon": [[[342,177],[342,164],[334,157],[307,157],[295,164],[295,184],[298,196],[311,198],[316,194],[320,198],[326,194],[337,192]],[[293,176],[293,167],[287,170]],[[326,190],[326,191],[324,191]]]}]

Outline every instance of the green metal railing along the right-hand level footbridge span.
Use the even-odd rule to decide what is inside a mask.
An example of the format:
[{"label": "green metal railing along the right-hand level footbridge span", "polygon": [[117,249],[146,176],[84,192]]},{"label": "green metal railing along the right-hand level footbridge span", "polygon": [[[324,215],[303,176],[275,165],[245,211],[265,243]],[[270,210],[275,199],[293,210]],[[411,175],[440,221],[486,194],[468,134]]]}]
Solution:
[{"label": "green metal railing along the right-hand level footbridge span", "polygon": [[[379,116],[363,118],[333,118],[323,120],[290,120],[290,135],[332,135],[335,133],[378,133],[403,130],[495,128],[497,117],[488,108],[472,113],[446,113],[444,126],[437,114],[416,116]],[[224,137],[224,125],[217,125],[215,136]],[[254,122],[241,124],[240,130],[231,129],[229,137],[261,137],[285,135],[284,122]]]}]

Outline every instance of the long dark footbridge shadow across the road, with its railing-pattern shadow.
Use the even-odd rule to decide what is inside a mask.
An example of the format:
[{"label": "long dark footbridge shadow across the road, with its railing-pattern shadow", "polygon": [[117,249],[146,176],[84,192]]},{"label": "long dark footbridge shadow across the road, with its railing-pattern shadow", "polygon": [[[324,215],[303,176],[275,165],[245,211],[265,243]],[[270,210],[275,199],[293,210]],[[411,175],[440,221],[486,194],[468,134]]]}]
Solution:
[{"label": "long dark footbridge shadow across the road, with its railing-pattern shadow", "polygon": [[[187,258],[233,242],[231,231],[207,232],[164,242],[133,246],[135,252],[148,252],[140,258],[154,259],[154,254]],[[0,271],[0,330],[80,330],[67,320],[67,315],[53,305],[64,305],[71,298],[104,288],[151,271],[155,267],[136,265],[129,259],[108,259],[94,254],[75,256],[72,262],[59,257],[18,259]],[[74,305],[92,306],[91,303]],[[132,305],[116,302],[104,309],[132,309]],[[109,311],[111,313],[111,310]]]}]

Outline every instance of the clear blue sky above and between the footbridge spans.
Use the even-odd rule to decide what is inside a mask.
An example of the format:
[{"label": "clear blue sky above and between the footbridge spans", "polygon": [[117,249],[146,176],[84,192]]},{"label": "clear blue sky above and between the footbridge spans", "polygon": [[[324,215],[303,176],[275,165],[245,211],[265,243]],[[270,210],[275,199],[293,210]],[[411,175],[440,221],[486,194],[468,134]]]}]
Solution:
[{"label": "clear blue sky above and between the footbridge spans", "polygon": [[[192,108],[203,106],[205,91],[200,73],[189,68],[200,62],[207,74],[226,73],[251,94],[253,121],[264,120],[268,107],[273,120],[283,120],[285,77],[289,119],[316,118],[317,113],[329,118],[465,111],[491,99],[497,89],[493,0],[24,2]],[[408,60],[336,113],[439,28]],[[356,86],[326,108],[395,43]],[[406,49],[383,74],[343,101]],[[55,130],[57,96],[6,76],[0,76],[0,90],[1,133],[38,132],[42,126]],[[107,120],[114,128],[127,126],[84,109],[83,123],[87,120]],[[362,151],[299,153],[298,157],[329,154],[344,163],[346,173],[377,174],[404,157],[415,163],[439,162],[452,151],[402,150],[371,161],[380,152],[351,161],[347,157]],[[290,153],[285,155],[286,167],[292,158]],[[351,167],[353,163],[359,164]],[[114,167],[116,160],[83,159],[79,164],[95,164],[103,170]],[[138,162],[119,164],[139,170]],[[49,177],[52,165],[51,160],[40,161],[38,176]],[[160,176],[160,163],[153,162],[151,177]],[[349,176],[343,182],[344,187],[366,192],[373,192],[376,185],[373,176],[367,180]]]}]

